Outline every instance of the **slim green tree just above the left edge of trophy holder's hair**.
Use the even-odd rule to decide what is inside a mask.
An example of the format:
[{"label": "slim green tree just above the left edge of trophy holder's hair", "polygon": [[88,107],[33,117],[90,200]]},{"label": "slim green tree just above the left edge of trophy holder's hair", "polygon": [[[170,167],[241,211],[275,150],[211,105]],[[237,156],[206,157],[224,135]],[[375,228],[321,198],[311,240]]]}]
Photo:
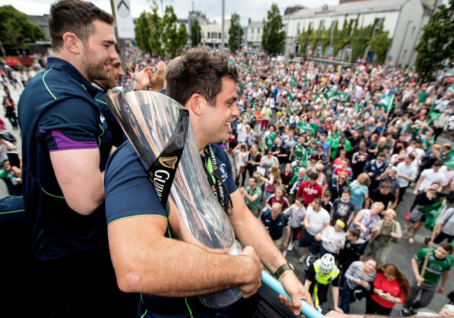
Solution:
[{"label": "slim green tree just above the left edge of trophy holder's hair", "polygon": [[166,12],[163,17],[163,33],[162,42],[164,50],[171,58],[176,57],[185,43],[181,43],[182,39],[177,32],[177,15],[173,10],[173,6],[166,6]]}]

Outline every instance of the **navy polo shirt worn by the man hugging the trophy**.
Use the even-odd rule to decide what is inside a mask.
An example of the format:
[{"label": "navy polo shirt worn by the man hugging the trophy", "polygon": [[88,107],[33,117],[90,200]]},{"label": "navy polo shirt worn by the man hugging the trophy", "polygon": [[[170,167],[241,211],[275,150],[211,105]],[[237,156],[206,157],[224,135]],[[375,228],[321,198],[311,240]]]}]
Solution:
[{"label": "navy polo shirt worn by the man hugging the trophy", "polygon": [[[221,177],[229,193],[237,189],[232,166],[226,152],[217,144],[212,150],[218,160]],[[202,156],[202,159],[207,158]],[[205,178],[205,175],[200,176]],[[149,181],[142,161],[133,146],[126,140],[115,150],[105,171],[105,213],[108,224],[118,219],[156,215],[168,218],[159,197]],[[226,198],[228,201],[228,197]],[[178,255],[175,255],[177,257]],[[169,298],[142,294],[138,315],[140,317],[224,317],[229,308],[205,308],[198,297]],[[192,315],[192,316],[190,316]]]}]

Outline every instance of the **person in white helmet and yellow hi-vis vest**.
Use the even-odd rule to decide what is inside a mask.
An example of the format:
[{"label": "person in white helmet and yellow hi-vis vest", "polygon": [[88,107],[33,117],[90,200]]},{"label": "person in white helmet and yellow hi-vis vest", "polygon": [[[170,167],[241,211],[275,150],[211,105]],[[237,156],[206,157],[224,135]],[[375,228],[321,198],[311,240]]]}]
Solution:
[{"label": "person in white helmet and yellow hi-vis vest", "polygon": [[340,270],[332,254],[321,256],[307,268],[305,288],[312,294],[312,301],[318,311],[322,311],[321,305],[327,301],[328,286],[331,284],[334,310],[343,312],[339,308],[339,273]]}]

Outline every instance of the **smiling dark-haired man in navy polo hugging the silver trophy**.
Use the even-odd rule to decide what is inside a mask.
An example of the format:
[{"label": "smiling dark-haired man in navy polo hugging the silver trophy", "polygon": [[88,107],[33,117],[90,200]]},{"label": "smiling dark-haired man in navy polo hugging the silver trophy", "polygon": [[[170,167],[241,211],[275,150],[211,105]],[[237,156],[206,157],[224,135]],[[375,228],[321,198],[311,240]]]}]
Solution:
[{"label": "smiling dark-haired man in navy polo hugging the silver trophy", "polygon": [[[292,298],[289,303],[279,296],[281,303],[299,315],[300,301],[312,305],[311,296],[247,208],[226,152],[217,144],[228,140],[229,123],[239,115],[235,66],[228,65],[222,55],[192,49],[168,64],[165,79],[166,94],[189,113],[199,157],[193,160],[201,158],[206,172],[196,178],[200,183],[203,179],[210,182],[207,189],[212,189],[244,249],[232,256],[173,239],[173,233],[180,230],[173,223],[179,198],[163,203],[160,191],[156,192],[159,188],[150,182],[159,177],[158,171],[147,175],[136,145],[126,142],[112,155],[105,173],[110,253],[120,289],[142,294],[140,317],[228,317],[235,306],[219,308],[200,299],[228,289],[239,289],[244,298],[252,296],[261,285],[264,265]],[[140,92],[128,94],[134,93]],[[140,135],[137,129],[134,133]],[[187,183],[187,187],[196,186]]]}]

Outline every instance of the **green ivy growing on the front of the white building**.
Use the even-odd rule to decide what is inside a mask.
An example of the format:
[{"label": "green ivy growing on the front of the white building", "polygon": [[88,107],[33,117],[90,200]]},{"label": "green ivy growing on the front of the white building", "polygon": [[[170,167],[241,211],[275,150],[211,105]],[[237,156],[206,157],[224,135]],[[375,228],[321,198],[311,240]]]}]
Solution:
[{"label": "green ivy growing on the front of the white building", "polygon": [[351,44],[351,60],[355,61],[358,57],[363,57],[367,46],[370,45],[369,50],[376,54],[378,61],[383,62],[391,43],[388,39],[388,32],[379,29],[374,35],[376,21],[361,28],[358,28],[358,23],[359,16],[351,20],[345,17],[342,29],[339,30],[339,22],[336,22],[334,32],[331,32],[332,26],[320,32],[319,30],[312,30],[309,25],[307,31],[302,30],[298,37],[300,50],[305,52],[307,44],[310,43],[310,49],[314,52],[317,44],[321,43],[321,54],[324,55],[329,48],[332,34],[332,55],[334,57],[345,45]]}]

